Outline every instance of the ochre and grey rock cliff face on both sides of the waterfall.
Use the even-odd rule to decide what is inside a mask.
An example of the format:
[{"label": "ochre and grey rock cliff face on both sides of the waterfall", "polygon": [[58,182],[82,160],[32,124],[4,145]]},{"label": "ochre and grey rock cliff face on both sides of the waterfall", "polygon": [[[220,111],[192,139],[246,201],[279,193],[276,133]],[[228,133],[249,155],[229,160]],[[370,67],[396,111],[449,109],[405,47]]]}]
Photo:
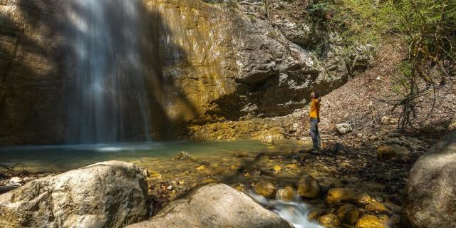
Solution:
[{"label": "ochre and grey rock cliff face on both sides of the waterfall", "polygon": [[[303,108],[311,90],[338,88],[370,59],[368,48],[338,46],[335,34],[293,16],[306,11],[298,3],[142,3],[138,38],[155,139],[266,133],[280,125],[276,117]],[[0,144],[65,141],[73,10],[63,0],[0,1]],[[256,123],[265,124],[249,127]],[[206,133],[208,125],[222,135]],[[224,135],[232,125],[239,133]]]}]

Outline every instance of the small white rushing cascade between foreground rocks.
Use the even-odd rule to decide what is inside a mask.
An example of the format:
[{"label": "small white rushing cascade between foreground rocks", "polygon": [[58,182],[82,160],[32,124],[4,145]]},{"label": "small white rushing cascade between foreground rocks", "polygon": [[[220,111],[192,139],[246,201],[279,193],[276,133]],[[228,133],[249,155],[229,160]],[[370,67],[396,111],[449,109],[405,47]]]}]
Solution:
[{"label": "small white rushing cascade between foreground rocks", "polygon": [[[285,202],[276,195],[276,199],[266,199],[261,195],[255,194],[253,191],[249,192],[249,196],[259,204],[273,208],[272,211],[279,214],[287,222],[292,224],[295,228],[323,228],[319,224],[310,222],[307,217],[311,212],[311,206],[301,202],[299,197],[295,197],[293,202]],[[297,196],[297,194],[295,194]]]}]

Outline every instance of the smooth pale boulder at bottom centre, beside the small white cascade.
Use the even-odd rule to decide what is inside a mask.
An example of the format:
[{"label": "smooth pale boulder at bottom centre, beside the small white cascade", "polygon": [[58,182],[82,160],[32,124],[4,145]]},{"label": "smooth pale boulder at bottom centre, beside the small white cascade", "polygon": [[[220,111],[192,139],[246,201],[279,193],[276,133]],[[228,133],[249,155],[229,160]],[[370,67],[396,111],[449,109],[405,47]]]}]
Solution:
[{"label": "smooth pale boulder at bottom centre, beside the small white cascade", "polygon": [[170,202],[152,219],[128,228],[286,228],[291,225],[232,187],[211,184]]}]

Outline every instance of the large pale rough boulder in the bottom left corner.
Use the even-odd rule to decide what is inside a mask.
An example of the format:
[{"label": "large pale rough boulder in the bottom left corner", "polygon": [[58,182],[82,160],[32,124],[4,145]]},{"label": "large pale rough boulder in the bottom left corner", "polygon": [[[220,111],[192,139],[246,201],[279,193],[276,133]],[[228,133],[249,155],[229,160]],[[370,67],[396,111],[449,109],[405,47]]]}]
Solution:
[{"label": "large pale rough boulder in the bottom left corner", "polygon": [[0,227],[124,227],[147,217],[145,170],[100,162],[0,195]]}]

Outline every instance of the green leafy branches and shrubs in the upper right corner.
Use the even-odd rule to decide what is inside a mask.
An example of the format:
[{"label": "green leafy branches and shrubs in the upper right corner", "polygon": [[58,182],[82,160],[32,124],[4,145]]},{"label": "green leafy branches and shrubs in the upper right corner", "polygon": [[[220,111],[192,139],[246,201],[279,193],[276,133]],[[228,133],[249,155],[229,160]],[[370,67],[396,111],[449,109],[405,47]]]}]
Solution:
[{"label": "green leafy branches and shrubs in the upper right corner", "polygon": [[[388,38],[401,41],[407,53],[392,90],[403,93],[400,128],[413,120],[420,96],[445,80],[454,80],[456,64],[456,1],[454,0],[333,0],[318,4],[330,8],[327,24],[346,44],[378,44]],[[328,13],[327,13],[328,14]],[[436,73],[437,72],[437,73]],[[435,98],[435,97],[434,97]]]}]

